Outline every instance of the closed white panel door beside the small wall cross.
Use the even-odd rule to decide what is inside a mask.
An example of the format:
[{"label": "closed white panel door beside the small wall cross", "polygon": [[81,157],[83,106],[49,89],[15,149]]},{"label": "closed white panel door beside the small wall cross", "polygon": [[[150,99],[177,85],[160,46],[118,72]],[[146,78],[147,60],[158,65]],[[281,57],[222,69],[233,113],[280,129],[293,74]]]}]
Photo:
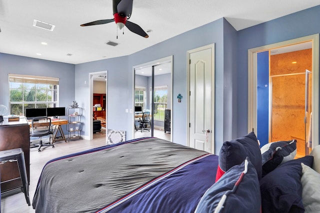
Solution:
[{"label": "closed white panel door beside the small wall cross", "polygon": [[214,45],[188,51],[189,146],[214,152]]}]

